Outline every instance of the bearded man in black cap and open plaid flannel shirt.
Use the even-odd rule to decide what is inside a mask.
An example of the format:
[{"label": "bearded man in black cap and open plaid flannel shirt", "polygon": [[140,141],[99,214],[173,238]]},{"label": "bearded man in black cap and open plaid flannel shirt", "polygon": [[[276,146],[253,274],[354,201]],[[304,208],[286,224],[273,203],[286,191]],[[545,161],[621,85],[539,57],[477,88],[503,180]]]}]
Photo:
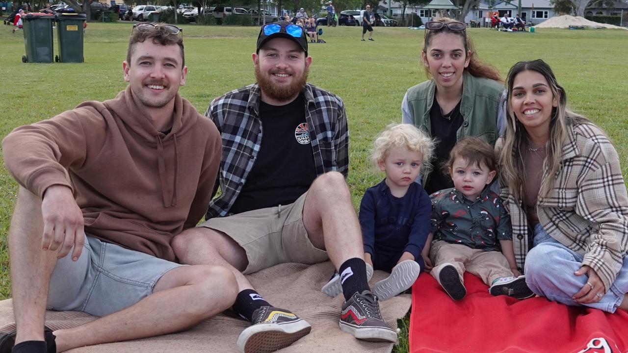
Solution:
[{"label": "bearded man in black cap and open plaid flannel shirt", "polygon": [[339,273],[331,283],[345,296],[340,329],[358,339],[397,339],[369,289],[345,182],[344,104],[306,83],[307,50],[303,28],[286,21],[263,26],[252,55],[257,84],[214,99],[205,113],[222,134],[221,193],[209,205],[207,222],[172,243],[182,263],[220,264],[235,274],[239,294],[232,310],[252,323],[238,339],[241,352],[281,349],[310,332],[305,320],[273,307],[244,276],[286,262],[330,259]]}]

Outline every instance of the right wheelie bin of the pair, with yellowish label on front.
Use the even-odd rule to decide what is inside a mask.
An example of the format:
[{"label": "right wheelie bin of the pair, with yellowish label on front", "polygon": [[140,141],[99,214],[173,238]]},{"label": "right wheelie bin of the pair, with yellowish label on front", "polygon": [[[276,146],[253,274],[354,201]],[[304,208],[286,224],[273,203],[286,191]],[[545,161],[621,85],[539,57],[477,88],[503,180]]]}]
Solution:
[{"label": "right wheelie bin of the pair, with yellowish label on front", "polygon": [[59,55],[55,61],[62,63],[82,63],[83,58],[83,21],[87,15],[61,13],[57,14],[57,39]]}]

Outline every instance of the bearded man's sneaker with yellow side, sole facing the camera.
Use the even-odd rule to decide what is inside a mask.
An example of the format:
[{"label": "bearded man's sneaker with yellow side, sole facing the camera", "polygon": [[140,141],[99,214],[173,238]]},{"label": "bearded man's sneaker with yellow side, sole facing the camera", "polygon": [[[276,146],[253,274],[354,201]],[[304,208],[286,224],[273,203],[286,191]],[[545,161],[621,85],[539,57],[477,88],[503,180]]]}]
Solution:
[{"label": "bearded man's sneaker with yellow side, sole facing the camera", "polygon": [[252,325],[237,338],[241,353],[269,353],[288,347],[310,333],[311,326],[288,310],[261,307],[253,312]]}]

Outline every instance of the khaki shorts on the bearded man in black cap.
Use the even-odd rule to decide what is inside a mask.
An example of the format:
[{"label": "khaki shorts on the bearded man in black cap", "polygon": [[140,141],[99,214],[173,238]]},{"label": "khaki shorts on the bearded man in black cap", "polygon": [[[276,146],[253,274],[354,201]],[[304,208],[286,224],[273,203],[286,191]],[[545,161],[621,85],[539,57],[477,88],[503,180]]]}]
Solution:
[{"label": "khaki shorts on the bearded man in black cap", "polygon": [[313,246],[303,224],[304,193],[293,204],[215,217],[198,225],[227,234],[246,252],[254,273],[280,263],[315,264],[328,259],[327,251]]}]

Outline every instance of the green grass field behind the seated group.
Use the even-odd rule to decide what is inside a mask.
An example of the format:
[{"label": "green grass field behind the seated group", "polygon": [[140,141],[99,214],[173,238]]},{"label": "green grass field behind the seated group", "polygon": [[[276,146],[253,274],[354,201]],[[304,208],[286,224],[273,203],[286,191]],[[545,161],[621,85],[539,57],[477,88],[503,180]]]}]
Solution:
[{"label": "green grass field behind the seated group", "polygon": [[[253,82],[251,53],[258,29],[183,26],[188,78],[181,94],[204,112],[214,97]],[[628,175],[628,31],[541,30],[503,33],[469,29],[477,55],[502,73],[519,60],[542,58],[565,87],[571,109],[607,131]],[[361,28],[323,28],[327,43],[310,45],[312,84],[345,102],[350,128],[349,185],[354,204],[367,187],[381,180],[369,165],[369,148],[387,124],[401,120],[406,89],[425,80],[419,61],[422,30],[376,28],[374,42],[361,42]],[[84,100],[105,100],[124,89],[122,60],[129,23],[90,23],[85,63],[22,63],[22,33],[0,26],[0,137],[13,128],[55,116]],[[57,43],[55,33],[55,43]],[[57,53],[55,44],[55,53]],[[17,184],[0,160],[0,299],[11,295],[6,235]],[[406,327],[396,347],[408,350]]]}]

